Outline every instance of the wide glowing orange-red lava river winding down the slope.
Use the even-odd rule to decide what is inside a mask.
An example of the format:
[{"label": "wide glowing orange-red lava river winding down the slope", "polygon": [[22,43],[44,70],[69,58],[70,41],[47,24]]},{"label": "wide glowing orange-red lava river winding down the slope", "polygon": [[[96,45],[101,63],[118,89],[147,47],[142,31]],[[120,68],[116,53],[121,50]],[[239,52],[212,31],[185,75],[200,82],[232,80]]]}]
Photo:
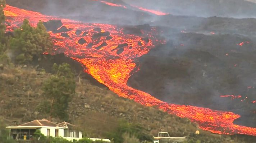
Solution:
[{"label": "wide glowing orange-red lava river winding down the slope", "polygon": [[[5,8],[5,15],[8,31],[17,27],[23,19],[28,19],[33,26],[39,20],[58,19],[8,5]],[[190,105],[169,104],[127,85],[128,78],[136,68],[134,59],[147,54],[154,45],[165,43],[154,37],[155,28],[151,28],[151,31],[141,30],[139,35],[131,35],[125,34],[124,28],[115,25],[88,24],[68,19],[61,21],[63,26],[70,30],[66,33],[67,38],[61,36],[61,33],[50,32],[55,45],[53,54],[65,53],[68,57],[81,62],[87,68],[86,73],[119,96],[133,99],[146,106],[156,105],[170,114],[189,118],[192,122],[198,123],[201,129],[213,133],[256,136],[256,128],[233,124],[240,115]],[[143,40],[145,37],[148,40]],[[81,44],[78,41],[82,38]]]}]

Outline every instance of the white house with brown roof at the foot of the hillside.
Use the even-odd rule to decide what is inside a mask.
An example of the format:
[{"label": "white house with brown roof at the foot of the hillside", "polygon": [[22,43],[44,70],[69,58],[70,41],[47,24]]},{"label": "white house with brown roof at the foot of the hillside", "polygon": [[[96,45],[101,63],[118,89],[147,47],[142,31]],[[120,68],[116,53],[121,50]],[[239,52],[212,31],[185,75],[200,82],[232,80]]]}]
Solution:
[{"label": "white house with brown roof at the foot of the hillside", "polygon": [[45,136],[63,137],[68,140],[82,139],[82,132],[78,131],[75,125],[67,122],[56,124],[42,119],[6,128],[10,129],[10,138],[15,140],[30,140],[36,130],[40,130]]}]

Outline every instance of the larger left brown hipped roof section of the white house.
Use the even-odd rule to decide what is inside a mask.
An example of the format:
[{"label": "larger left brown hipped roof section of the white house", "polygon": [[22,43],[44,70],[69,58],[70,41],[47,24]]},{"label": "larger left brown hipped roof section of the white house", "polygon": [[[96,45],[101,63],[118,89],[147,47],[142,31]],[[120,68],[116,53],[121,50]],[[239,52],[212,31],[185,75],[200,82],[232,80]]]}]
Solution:
[{"label": "larger left brown hipped roof section of the white house", "polygon": [[63,127],[62,125],[50,122],[49,120],[42,119],[42,120],[33,120],[28,123],[21,124],[19,126],[48,126],[48,127]]}]

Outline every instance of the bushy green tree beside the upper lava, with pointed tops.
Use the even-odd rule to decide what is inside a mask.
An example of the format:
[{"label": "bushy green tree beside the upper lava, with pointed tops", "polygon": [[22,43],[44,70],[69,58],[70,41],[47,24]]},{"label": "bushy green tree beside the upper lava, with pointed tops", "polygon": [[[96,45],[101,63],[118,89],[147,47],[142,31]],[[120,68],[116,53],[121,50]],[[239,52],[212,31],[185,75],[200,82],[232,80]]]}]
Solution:
[{"label": "bushy green tree beside the upper lava, with pointed tops", "polygon": [[50,53],[52,41],[42,21],[33,28],[25,19],[20,28],[14,30],[14,38],[10,40],[10,47],[18,63],[32,61],[33,58],[41,59],[41,54]]}]

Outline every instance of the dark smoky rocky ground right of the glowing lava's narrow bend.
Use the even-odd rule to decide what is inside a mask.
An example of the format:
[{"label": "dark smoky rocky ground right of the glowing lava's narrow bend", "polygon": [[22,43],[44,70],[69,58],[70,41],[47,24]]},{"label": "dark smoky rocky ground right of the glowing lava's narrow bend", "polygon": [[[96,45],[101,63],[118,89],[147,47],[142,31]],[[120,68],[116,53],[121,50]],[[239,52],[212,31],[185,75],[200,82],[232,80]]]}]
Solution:
[{"label": "dark smoky rocky ground right of the glowing lava's narrow bend", "polygon": [[255,127],[254,41],[195,33],[173,33],[171,39],[139,59],[128,85],[169,103],[232,111],[242,115],[236,123]]}]

